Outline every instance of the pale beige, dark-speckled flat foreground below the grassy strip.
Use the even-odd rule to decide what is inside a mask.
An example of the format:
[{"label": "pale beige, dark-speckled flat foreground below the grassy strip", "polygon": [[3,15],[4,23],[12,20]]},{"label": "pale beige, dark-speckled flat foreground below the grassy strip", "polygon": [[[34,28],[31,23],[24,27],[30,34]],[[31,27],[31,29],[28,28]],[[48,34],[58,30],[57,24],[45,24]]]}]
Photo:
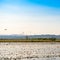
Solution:
[{"label": "pale beige, dark-speckled flat foreground below the grassy strip", "polygon": [[60,43],[0,43],[0,60],[60,60]]}]

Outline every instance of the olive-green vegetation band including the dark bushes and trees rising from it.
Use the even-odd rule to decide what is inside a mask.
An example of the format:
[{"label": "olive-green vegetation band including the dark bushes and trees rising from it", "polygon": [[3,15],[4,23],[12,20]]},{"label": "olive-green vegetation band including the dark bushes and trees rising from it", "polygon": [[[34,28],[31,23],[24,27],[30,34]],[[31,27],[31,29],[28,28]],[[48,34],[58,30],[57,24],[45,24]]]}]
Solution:
[{"label": "olive-green vegetation band including the dark bushes and trees rising from it", "polygon": [[25,39],[0,39],[0,42],[60,42],[56,38],[28,38]]}]

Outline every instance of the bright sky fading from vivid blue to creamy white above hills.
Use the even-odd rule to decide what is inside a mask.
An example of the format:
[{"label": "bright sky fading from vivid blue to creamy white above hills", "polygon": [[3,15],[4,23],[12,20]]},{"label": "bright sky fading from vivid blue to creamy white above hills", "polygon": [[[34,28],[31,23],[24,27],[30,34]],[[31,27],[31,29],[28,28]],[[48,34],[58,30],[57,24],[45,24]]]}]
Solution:
[{"label": "bright sky fading from vivid blue to creamy white above hills", "polygon": [[60,0],[0,0],[0,34],[60,34]]}]

